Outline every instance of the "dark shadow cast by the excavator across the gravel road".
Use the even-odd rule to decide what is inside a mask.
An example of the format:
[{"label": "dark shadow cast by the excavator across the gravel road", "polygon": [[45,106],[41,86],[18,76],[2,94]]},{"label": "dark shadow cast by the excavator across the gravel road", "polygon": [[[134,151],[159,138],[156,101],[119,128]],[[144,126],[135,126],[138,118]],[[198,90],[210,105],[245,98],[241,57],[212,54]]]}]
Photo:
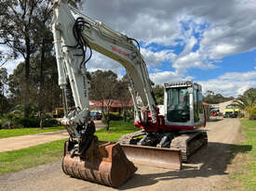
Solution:
[{"label": "dark shadow cast by the excavator across the gravel road", "polygon": [[[209,143],[209,146],[199,150],[192,156],[190,163],[183,166],[182,171],[168,171],[138,174],[136,173],[126,185],[119,189],[127,190],[134,187],[155,185],[159,181],[184,178],[209,177],[227,174],[227,165],[236,157],[237,153],[247,153],[252,146],[239,146],[222,143]],[[151,171],[152,172],[152,171]]]}]

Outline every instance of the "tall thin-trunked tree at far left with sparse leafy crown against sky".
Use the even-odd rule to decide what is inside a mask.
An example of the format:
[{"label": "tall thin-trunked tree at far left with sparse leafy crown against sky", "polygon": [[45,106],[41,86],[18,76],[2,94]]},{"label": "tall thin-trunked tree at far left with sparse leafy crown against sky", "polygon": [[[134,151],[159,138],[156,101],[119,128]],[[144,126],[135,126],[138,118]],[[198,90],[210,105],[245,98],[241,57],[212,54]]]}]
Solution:
[{"label": "tall thin-trunked tree at far left with sparse leafy crown against sky", "polygon": [[[30,59],[36,51],[34,33],[34,19],[37,17],[36,9],[43,4],[43,1],[36,0],[6,0],[1,1],[1,32],[2,44],[7,45],[12,50],[12,55],[25,60],[25,99],[24,116],[29,115],[29,105],[26,97],[30,96]],[[5,10],[5,11],[4,11]]]}]

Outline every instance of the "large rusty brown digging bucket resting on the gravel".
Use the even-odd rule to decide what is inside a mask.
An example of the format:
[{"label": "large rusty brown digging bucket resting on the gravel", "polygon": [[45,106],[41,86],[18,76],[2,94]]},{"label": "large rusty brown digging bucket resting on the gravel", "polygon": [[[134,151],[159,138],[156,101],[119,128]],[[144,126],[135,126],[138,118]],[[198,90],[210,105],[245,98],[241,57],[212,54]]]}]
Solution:
[{"label": "large rusty brown digging bucket resting on the gravel", "polygon": [[118,143],[101,142],[95,136],[82,157],[71,157],[68,145],[65,142],[62,170],[74,178],[118,187],[137,171]]}]

